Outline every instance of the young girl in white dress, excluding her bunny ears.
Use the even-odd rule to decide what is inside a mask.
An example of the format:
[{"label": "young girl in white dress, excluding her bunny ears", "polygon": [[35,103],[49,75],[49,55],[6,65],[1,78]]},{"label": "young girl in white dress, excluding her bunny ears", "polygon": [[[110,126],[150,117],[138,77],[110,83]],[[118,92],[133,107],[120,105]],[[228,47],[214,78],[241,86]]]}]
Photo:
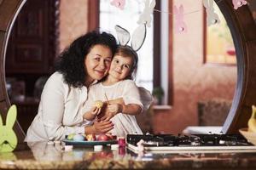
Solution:
[{"label": "young girl in white dress, excluding her bunny ears", "polygon": [[[113,130],[110,133],[125,137],[128,133],[142,134],[137,125],[135,115],[143,111],[139,90],[131,79],[137,71],[137,53],[129,46],[119,46],[113,56],[108,76],[102,81],[90,87],[88,100],[84,108],[93,105],[90,111],[84,113],[84,119],[92,121],[96,116],[104,114],[96,121],[113,122]],[[112,99],[124,100],[124,104],[114,104]],[[96,100],[106,101],[107,108],[98,108],[94,105]],[[90,105],[90,106],[88,106]],[[101,113],[101,114],[100,114]],[[100,115],[99,115],[100,114]]]}]

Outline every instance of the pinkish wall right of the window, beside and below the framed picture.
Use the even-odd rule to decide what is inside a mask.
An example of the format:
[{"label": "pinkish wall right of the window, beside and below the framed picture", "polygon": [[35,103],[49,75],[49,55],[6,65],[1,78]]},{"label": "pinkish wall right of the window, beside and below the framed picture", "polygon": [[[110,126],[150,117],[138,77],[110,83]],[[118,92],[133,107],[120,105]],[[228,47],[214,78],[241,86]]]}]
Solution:
[{"label": "pinkish wall right of the window, beside and below the framed picture", "polygon": [[203,64],[203,14],[201,1],[176,0],[183,4],[188,32],[173,33],[173,105],[154,111],[154,133],[181,133],[198,125],[197,102],[213,98],[233,99],[236,66]]}]

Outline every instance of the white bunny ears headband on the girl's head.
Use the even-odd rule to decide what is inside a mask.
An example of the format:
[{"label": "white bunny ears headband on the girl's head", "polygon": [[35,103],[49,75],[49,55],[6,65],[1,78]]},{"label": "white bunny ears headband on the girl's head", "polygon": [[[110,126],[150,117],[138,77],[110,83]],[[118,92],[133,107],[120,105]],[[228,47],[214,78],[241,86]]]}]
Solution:
[{"label": "white bunny ears headband on the girl's head", "polygon": [[131,38],[131,48],[134,51],[138,51],[142,46],[146,38],[146,25],[139,25],[135,31],[133,31],[132,37],[130,37],[129,31],[125,30],[121,26],[115,26],[115,31],[119,40],[119,44],[122,46],[127,45]]}]

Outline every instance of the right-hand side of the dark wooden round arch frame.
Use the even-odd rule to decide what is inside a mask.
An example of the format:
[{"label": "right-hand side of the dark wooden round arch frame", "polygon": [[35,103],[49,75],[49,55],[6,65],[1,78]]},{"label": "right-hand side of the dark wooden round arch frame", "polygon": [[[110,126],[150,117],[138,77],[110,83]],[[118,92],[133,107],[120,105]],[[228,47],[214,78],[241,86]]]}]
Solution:
[{"label": "right-hand side of the dark wooden round arch frame", "polygon": [[[247,127],[252,105],[255,105],[256,71],[253,65],[256,59],[256,25],[247,6],[235,10],[230,0],[215,0],[224,14],[236,47],[237,82],[233,103],[224,126],[224,133],[238,133],[241,127]],[[253,59],[254,58],[254,59]]]}]

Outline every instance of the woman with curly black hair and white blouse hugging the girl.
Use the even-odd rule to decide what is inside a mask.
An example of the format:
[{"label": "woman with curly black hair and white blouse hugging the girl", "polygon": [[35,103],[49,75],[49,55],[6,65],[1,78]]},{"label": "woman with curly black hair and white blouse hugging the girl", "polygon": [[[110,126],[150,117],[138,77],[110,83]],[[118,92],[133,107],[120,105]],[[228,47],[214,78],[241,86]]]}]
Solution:
[{"label": "woman with curly black hair and white blouse hugging the girl", "polygon": [[84,103],[90,86],[108,74],[117,43],[113,35],[92,31],[65,49],[44,85],[38,114],[26,142],[64,139],[69,133],[106,133],[113,123],[83,125]]}]

